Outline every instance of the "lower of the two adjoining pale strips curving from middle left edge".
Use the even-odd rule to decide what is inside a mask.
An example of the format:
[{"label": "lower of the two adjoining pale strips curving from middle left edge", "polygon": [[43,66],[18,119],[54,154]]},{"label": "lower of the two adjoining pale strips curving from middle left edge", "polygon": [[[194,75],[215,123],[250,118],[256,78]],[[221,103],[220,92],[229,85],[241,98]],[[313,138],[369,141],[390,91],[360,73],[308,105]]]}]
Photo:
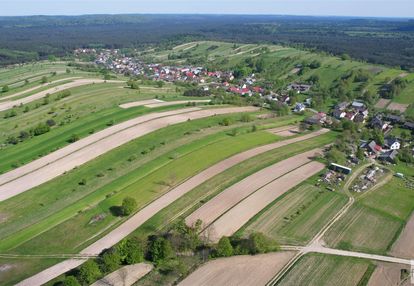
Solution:
[{"label": "lower of the two adjoining pale strips curving from middle left edge", "polygon": [[[92,143],[85,148],[77,150],[67,156],[60,157],[58,160],[44,165],[43,167],[26,173],[0,186],[0,201],[6,200],[31,188],[39,186],[53,178],[56,178],[66,171],[89,162],[106,152],[113,150],[129,141],[139,138],[155,130],[167,127],[171,124],[178,124],[188,120],[201,119],[209,116],[220,114],[252,112],[257,111],[254,107],[234,107],[234,108],[217,108],[204,110],[189,110],[190,112],[181,113],[171,116],[165,116],[135,125],[131,128],[124,129],[116,134],[112,134],[102,140]],[[191,112],[192,111],[192,112]],[[57,152],[59,152],[58,150]],[[36,161],[35,161],[36,162]],[[7,175],[7,174],[6,174]]]}]

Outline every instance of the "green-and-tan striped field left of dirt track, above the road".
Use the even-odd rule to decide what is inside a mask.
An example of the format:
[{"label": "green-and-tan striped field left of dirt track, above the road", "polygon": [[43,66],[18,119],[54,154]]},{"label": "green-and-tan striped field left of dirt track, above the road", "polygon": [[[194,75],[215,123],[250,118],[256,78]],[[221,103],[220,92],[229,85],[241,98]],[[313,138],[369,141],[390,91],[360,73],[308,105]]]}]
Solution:
[{"label": "green-and-tan striped field left of dirt track, above the road", "polygon": [[342,194],[304,184],[277,200],[244,232],[262,232],[281,244],[304,245],[346,202]]}]

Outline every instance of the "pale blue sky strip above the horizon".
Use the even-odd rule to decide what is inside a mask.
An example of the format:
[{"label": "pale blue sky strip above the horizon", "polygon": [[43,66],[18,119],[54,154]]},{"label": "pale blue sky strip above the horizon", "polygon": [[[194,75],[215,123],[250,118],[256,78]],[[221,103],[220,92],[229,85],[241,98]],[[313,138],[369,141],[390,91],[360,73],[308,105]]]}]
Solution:
[{"label": "pale blue sky strip above the horizon", "polygon": [[0,0],[1,16],[272,14],[414,18],[414,0]]}]

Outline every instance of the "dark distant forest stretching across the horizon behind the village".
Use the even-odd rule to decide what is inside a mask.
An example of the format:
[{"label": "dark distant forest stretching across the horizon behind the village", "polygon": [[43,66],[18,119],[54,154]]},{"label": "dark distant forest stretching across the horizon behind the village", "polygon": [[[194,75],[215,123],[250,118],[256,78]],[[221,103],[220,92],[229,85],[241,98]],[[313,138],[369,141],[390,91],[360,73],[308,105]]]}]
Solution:
[{"label": "dark distant forest stretching across the horizon behind the village", "polygon": [[345,17],[90,15],[0,17],[0,64],[79,47],[162,48],[193,40],[275,43],[414,68],[414,21]]}]

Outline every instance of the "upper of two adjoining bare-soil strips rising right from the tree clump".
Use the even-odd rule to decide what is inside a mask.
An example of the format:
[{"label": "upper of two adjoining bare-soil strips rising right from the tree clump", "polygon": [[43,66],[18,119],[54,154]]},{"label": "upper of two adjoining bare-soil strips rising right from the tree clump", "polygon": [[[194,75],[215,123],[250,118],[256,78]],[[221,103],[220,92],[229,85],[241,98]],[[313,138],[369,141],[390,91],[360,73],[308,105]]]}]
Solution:
[{"label": "upper of two adjoining bare-soil strips rising right from the tree clump", "polygon": [[188,216],[186,218],[186,223],[188,225],[194,225],[197,220],[201,220],[204,227],[209,226],[225,212],[258,189],[264,187],[286,173],[309,163],[311,161],[310,157],[319,151],[320,149],[316,149],[293,156],[254,173],[251,176],[248,176],[237,184],[221,192],[219,195]]}]

